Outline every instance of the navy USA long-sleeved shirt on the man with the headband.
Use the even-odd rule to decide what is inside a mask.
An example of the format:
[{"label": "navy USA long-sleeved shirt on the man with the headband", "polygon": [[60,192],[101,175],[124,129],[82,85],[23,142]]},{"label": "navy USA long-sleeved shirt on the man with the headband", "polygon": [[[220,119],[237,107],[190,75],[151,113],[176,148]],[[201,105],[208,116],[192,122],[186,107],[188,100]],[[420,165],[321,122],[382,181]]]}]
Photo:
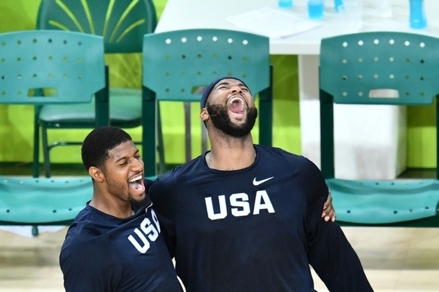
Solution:
[{"label": "navy USA long-sleeved shirt on the man with the headband", "polygon": [[339,225],[321,218],[328,188],[303,156],[255,145],[243,170],[205,155],[159,176],[150,197],[188,292],[373,291]]}]

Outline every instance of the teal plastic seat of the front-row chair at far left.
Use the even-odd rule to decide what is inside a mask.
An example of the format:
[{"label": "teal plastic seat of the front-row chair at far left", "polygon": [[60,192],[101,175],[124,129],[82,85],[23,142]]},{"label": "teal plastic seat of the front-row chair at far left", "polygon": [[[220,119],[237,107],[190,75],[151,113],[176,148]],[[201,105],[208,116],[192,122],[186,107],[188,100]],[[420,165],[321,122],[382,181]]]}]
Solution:
[{"label": "teal plastic seat of the front-row chair at far left", "polygon": [[68,225],[93,195],[90,176],[0,177],[0,222]]}]

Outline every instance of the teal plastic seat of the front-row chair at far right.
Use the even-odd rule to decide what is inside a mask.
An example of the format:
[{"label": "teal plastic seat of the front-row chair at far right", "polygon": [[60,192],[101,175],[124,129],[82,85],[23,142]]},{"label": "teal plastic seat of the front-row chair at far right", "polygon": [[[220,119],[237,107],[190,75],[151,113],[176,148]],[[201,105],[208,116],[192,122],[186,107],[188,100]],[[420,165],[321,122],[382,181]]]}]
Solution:
[{"label": "teal plastic seat of the front-row chair at far right", "polygon": [[326,180],[337,221],[386,224],[437,216],[439,181]]}]

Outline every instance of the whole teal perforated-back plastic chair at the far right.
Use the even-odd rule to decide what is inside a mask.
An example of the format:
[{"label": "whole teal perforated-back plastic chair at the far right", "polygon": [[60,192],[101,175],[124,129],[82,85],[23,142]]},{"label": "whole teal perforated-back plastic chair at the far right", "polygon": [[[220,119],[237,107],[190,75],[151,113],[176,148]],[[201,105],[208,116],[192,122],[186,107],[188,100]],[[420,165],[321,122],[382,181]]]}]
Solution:
[{"label": "whole teal perforated-back plastic chair at the far right", "polygon": [[336,179],[333,127],[334,103],[434,104],[439,125],[438,51],[438,38],[411,33],[356,33],[322,39],[321,170],[340,223],[439,227],[439,170],[434,179]]}]

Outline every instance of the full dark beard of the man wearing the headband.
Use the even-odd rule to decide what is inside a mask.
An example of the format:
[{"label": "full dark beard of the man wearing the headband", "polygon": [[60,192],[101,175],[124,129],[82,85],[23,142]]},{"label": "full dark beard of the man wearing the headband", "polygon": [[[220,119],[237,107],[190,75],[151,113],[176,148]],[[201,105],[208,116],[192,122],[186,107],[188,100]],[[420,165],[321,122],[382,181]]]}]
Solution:
[{"label": "full dark beard of the man wearing the headband", "polygon": [[258,109],[256,109],[256,107],[249,108],[244,124],[235,125],[231,122],[229,118],[229,109],[225,105],[207,104],[206,109],[213,125],[225,134],[234,138],[242,138],[250,134],[251,129],[253,129],[255,125],[256,118],[258,117]]}]

